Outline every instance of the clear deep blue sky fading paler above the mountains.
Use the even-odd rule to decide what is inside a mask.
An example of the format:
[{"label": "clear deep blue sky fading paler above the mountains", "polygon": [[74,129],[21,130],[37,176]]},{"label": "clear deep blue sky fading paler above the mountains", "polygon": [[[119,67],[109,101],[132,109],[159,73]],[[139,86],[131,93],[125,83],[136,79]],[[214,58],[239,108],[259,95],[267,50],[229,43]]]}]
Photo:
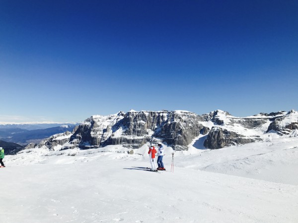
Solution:
[{"label": "clear deep blue sky fading paler above the mountains", "polygon": [[298,110],[297,0],[0,0],[0,121]]}]

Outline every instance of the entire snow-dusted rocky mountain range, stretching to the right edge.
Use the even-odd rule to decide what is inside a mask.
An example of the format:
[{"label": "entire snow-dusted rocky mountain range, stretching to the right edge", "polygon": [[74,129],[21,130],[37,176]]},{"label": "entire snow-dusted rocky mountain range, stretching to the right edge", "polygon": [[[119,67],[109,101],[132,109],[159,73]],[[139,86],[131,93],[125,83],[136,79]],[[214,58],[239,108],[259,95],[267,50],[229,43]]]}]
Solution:
[{"label": "entire snow-dusted rocky mountain range, stretching to the right edge", "polygon": [[175,150],[187,150],[200,134],[208,134],[204,146],[219,149],[263,140],[265,134],[287,137],[297,129],[297,111],[260,113],[243,118],[220,110],[203,115],[189,111],[129,111],[93,115],[72,133],[54,135],[37,147],[64,150],[123,145],[136,149],[149,142],[162,142]]}]

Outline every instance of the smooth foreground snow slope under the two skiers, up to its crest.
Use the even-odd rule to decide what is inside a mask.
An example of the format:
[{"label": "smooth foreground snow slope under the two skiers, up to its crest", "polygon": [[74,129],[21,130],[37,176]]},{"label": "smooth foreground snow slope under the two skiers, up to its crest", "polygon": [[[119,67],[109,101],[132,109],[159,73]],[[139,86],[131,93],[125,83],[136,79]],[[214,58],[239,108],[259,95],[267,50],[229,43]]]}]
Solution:
[{"label": "smooth foreground snow slope under the two skiers, up to its crest", "polygon": [[298,220],[297,186],[181,167],[161,174],[134,169],[146,165],[114,160],[5,168],[1,219],[4,223]]}]

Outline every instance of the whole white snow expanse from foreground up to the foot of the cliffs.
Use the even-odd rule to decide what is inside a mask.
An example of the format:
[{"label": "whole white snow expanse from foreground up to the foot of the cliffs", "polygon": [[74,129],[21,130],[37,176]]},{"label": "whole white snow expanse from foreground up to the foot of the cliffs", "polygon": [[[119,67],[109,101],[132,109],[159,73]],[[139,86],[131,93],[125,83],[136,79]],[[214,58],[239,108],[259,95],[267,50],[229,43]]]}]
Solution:
[{"label": "whole white snow expanse from foreground up to the foot of the cliffs", "polygon": [[204,137],[188,151],[165,146],[157,173],[143,168],[148,145],[5,156],[0,222],[298,222],[298,137],[219,150]]}]

